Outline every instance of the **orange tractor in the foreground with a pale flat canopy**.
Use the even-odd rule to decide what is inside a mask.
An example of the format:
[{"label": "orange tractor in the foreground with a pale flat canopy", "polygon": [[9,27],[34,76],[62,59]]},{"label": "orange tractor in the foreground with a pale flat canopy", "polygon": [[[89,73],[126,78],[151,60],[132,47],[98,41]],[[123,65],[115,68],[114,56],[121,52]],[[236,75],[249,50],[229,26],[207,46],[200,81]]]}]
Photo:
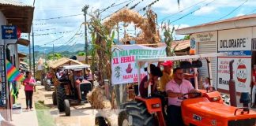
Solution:
[{"label": "orange tractor in the foreground with a pale flat canopy", "polygon": [[[226,54],[199,54],[180,57],[160,57],[137,60],[139,69],[145,62],[157,61],[181,61],[187,59],[206,59],[208,62],[209,77],[211,78],[210,57],[224,56]],[[195,69],[196,70],[196,69]],[[140,75],[140,71],[138,70]],[[140,82],[140,78],[138,82]],[[138,83],[140,84],[140,83]],[[195,88],[198,89],[196,81]],[[181,103],[183,123],[198,126],[252,126],[256,123],[256,112],[248,108],[228,106],[222,100],[220,93],[215,91],[210,83],[206,90],[198,90],[195,93],[183,95]],[[160,98],[141,98],[137,96],[134,102],[126,102],[121,105],[119,113],[119,126],[165,126]],[[186,96],[188,95],[188,96]]]}]

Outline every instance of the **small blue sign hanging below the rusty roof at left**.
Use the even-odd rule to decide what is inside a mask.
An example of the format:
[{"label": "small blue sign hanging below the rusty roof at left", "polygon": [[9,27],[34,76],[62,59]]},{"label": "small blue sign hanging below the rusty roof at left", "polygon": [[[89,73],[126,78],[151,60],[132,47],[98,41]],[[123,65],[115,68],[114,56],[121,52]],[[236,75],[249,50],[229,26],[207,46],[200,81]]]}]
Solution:
[{"label": "small blue sign hanging below the rusty roof at left", "polygon": [[2,25],[2,39],[17,39],[17,27],[14,25]]}]

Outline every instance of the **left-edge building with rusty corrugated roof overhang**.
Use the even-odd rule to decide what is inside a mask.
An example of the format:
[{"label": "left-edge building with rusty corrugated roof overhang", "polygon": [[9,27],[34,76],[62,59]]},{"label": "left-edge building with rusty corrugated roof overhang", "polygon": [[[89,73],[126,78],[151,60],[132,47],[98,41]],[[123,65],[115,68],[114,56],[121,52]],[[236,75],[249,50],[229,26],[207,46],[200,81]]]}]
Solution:
[{"label": "left-edge building with rusty corrugated roof overhang", "polygon": [[[6,79],[6,59],[8,59],[17,68],[19,67],[19,58],[17,52],[17,44],[28,45],[29,41],[24,39],[2,39],[2,34],[6,31],[2,26],[15,26],[23,33],[30,33],[32,26],[34,7],[24,5],[14,0],[0,1],[0,74],[2,83],[0,83],[1,109],[12,109],[13,96],[9,93],[10,84]],[[16,30],[10,31],[14,32]],[[11,119],[11,111],[7,110],[6,115],[2,115],[6,120]]]}]

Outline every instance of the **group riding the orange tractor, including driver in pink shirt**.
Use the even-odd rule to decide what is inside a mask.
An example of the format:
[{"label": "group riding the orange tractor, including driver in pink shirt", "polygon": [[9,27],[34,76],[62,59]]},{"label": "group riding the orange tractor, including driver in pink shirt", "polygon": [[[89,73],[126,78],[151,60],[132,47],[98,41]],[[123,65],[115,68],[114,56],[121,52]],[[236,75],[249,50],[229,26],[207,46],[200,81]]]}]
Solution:
[{"label": "group riding the orange tractor, including driver in pink shirt", "polygon": [[[163,71],[161,71],[160,65],[163,66]],[[189,81],[194,76],[198,76],[198,73],[183,73],[183,69],[179,67],[173,69],[172,61],[159,62],[157,66],[151,64],[149,76],[145,76],[141,80],[140,95],[142,98],[148,97],[148,87],[151,86],[151,96],[160,98],[162,105],[168,105],[167,110],[162,106],[164,119],[168,120],[167,123],[183,125],[179,97],[183,97],[186,93],[195,92],[194,86]],[[160,81],[158,80],[159,77]],[[159,90],[157,90],[157,85]],[[168,100],[165,100],[166,96]]]}]

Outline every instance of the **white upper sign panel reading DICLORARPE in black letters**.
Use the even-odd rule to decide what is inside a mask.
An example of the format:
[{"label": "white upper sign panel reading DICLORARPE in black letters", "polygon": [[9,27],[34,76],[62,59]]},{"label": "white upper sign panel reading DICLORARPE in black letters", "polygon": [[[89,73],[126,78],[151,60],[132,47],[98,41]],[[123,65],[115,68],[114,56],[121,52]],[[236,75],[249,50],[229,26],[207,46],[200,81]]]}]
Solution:
[{"label": "white upper sign panel reading DICLORARPE in black letters", "polygon": [[219,31],[218,51],[251,50],[251,28]]}]

